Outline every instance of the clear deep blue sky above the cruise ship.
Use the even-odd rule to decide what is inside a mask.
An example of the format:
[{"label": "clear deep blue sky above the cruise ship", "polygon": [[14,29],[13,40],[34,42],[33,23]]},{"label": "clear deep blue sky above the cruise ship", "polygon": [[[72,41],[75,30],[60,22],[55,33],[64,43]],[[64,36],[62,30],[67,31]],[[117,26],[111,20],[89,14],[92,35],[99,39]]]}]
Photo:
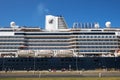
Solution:
[{"label": "clear deep blue sky above the cruise ship", "polygon": [[74,22],[111,21],[120,26],[120,0],[0,0],[0,26],[15,21],[19,26],[44,28],[45,15],[63,15],[68,26]]}]

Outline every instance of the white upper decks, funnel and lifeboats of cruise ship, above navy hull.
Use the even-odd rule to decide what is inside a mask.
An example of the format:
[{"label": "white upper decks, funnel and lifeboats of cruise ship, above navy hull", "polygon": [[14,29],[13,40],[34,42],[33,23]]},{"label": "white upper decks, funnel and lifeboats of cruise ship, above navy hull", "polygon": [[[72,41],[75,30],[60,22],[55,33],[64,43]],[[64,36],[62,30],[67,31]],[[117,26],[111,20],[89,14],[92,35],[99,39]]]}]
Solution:
[{"label": "white upper decks, funnel and lifeboats of cruise ship, above navy hull", "polygon": [[39,27],[0,28],[1,57],[118,57],[120,29],[98,23],[74,23],[68,28],[62,16],[46,16]]}]

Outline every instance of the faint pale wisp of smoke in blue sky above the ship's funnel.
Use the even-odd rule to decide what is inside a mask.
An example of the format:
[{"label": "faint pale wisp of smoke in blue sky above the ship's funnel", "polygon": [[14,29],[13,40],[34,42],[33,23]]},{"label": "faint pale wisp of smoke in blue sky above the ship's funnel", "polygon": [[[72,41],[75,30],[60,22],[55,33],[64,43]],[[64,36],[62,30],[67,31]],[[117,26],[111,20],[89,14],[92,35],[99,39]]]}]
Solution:
[{"label": "faint pale wisp of smoke in blue sky above the ship's funnel", "polygon": [[46,8],[46,6],[43,3],[41,3],[37,6],[37,11],[38,11],[39,16],[49,14],[49,12],[50,12],[50,10],[48,8]]}]

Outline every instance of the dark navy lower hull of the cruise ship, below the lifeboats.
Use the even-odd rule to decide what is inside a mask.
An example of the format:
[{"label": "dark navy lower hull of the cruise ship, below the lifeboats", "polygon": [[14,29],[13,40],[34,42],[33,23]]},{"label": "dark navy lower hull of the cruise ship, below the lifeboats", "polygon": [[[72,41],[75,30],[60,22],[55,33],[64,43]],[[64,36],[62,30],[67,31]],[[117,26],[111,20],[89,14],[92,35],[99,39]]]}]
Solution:
[{"label": "dark navy lower hull of the cruise ship, below the lifeboats", "polygon": [[0,70],[120,69],[120,57],[0,58]]}]

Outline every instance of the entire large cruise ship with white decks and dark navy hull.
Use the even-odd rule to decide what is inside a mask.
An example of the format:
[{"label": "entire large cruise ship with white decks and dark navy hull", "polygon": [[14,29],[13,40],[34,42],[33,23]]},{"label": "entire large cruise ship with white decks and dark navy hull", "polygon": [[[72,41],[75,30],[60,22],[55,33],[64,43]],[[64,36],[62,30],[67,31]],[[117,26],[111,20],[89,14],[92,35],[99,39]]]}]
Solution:
[{"label": "entire large cruise ship with white decks and dark navy hull", "polygon": [[45,29],[0,28],[0,70],[120,69],[120,28],[111,22],[74,23],[46,15]]}]

